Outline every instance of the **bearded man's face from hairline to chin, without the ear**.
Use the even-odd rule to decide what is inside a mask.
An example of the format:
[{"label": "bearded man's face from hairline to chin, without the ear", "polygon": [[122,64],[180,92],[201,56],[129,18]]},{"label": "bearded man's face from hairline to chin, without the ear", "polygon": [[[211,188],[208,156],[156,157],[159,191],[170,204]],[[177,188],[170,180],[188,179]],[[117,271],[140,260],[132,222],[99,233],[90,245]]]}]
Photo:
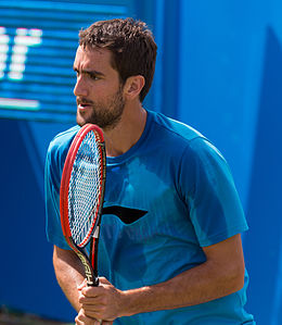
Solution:
[{"label": "bearded man's face from hairline to chin, without the ear", "polygon": [[104,130],[114,128],[121,118],[125,100],[118,72],[111,65],[111,52],[78,47],[74,71],[77,124],[92,123]]}]

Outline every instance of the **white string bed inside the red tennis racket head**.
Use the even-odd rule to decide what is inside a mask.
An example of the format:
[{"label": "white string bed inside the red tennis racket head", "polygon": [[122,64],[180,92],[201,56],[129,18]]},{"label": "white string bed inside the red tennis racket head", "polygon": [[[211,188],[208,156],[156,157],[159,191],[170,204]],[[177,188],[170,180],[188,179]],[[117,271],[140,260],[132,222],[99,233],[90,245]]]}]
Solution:
[{"label": "white string bed inside the red tennis racket head", "polygon": [[88,242],[99,211],[102,168],[101,148],[90,132],[76,154],[68,190],[69,227],[80,247]]}]

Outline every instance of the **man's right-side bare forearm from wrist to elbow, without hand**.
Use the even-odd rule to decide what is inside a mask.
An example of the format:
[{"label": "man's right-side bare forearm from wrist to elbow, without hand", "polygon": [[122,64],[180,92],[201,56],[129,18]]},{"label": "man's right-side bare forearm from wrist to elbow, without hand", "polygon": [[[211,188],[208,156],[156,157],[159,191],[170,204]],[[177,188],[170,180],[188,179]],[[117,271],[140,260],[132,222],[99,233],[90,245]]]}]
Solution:
[{"label": "man's right-side bare forearm from wrist to elbow, without hand", "polygon": [[238,291],[243,286],[236,273],[222,275],[204,263],[154,286],[125,291],[124,315],[204,303]]}]

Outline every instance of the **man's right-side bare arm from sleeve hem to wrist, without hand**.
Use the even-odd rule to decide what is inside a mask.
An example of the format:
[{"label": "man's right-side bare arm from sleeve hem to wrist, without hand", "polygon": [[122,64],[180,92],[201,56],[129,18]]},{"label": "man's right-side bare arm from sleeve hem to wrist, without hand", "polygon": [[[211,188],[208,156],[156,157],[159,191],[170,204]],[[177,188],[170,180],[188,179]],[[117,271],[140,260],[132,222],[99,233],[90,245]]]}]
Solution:
[{"label": "man's right-side bare arm from sleeve hem to wrist, without hand", "polygon": [[204,251],[205,263],[165,283],[124,291],[124,315],[195,305],[240,290],[245,272],[240,235]]}]

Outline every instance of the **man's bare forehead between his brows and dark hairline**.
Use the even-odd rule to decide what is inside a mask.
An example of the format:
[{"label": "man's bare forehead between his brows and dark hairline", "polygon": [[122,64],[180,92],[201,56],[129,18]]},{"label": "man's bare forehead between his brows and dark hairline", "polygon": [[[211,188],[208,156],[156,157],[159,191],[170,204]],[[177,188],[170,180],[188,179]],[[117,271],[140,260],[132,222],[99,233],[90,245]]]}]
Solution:
[{"label": "man's bare forehead between his brows and dark hairline", "polygon": [[74,66],[76,68],[112,68],[112,53],[107,49],[79,46],[76,51]]}]

